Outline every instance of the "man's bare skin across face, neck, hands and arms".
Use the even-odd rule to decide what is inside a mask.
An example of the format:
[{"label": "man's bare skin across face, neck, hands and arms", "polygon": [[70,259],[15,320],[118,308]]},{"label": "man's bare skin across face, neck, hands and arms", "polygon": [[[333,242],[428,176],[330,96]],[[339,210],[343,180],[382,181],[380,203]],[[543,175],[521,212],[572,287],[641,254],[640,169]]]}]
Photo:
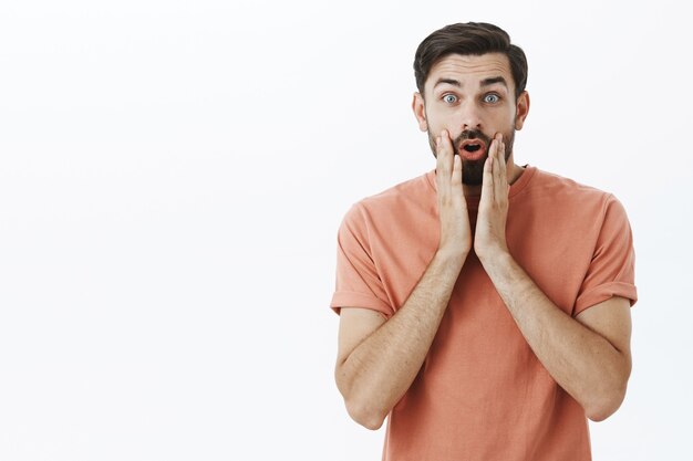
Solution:
[{"label": "man's bare skin across face, neck, hands and arms", "polygon": [[[505,84],[487,84],[497,77]],[[436,85],[441,80],[457,84]],[[335,380],[349,413],[369,429],[382,426],[416,377],[474,245],[541,364],[588,418],[608,418],[623,401],[631,371],[629,301],[614,296],[573,318],[539,290],[506,242],[509,187],[524,170],[515,165],[511,146],[504,139],[521,129],[529,111],[528,94],[515,98],[509,62],[499,53],[439,60],[424,93],[414,95],[412,106],[436,157],[441,241],[421,281],[389,321],[358,306],[341,310]],[[462,182],[463,163],[453,139],[465,129],[480,129],[494,139],[482,186]],[[474,240],[468,195],[480,195]]]}]

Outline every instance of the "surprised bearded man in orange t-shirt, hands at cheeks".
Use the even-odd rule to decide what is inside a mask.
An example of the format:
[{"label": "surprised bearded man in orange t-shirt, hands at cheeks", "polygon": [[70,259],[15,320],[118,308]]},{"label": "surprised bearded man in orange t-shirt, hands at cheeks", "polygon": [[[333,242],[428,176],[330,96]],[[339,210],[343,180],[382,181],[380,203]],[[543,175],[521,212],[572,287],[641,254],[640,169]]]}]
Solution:
[{"label": "surprised bearded man in orange t-shirt, hands at cheeks", "polygon": [[[621,405],[637,301],[618,200],[515,164],[527,61],[501,29],[416,51],[436,168],[354,205],[339,231],[337,385],[385,460],[589,460]],[[586,418],[587,417],[587,418]]]}]

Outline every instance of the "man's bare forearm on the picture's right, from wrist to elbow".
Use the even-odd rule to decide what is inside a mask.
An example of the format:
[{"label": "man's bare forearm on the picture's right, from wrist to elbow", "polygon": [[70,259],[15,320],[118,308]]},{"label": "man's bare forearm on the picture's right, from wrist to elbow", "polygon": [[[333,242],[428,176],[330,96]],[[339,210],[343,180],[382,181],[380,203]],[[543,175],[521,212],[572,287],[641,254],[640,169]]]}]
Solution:
[{"label": "man's bare forearm on the picture's right, from wrist to elbow", "polygon": [[556,306],[517,264],[499,252],[483,261],[527,343],[554,379],[601,420],[620,406],[630,356]]}]

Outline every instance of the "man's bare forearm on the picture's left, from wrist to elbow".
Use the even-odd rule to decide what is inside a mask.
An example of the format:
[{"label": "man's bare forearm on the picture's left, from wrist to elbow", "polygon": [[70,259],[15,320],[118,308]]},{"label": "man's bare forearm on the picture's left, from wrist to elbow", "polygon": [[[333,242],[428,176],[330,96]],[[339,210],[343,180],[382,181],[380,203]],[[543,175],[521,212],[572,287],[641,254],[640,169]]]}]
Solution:
[{"label": "man's bare forearm on the picture's left, from wrist to elbow", "polygon": [[379,428],[416,377],[465,258],[436,252],[404,305],[338,366],[340,391],[362,425]]}]

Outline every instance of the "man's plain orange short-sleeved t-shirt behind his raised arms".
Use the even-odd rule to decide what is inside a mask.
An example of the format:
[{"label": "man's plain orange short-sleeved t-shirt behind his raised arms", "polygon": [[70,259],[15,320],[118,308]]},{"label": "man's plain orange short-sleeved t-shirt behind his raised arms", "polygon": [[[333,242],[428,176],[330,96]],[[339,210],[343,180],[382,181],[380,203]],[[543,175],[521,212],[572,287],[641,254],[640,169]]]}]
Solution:
[{"label": "man's plain orange short-sleeved t-shirt behind his raised arms", "polygon": [[[437,249],[435,170],[355,203],[338,235],[331,306],[390,318]],[[467,197],[474,223],[478,197]],[[510,254],[576,316],[637,301],[628,217],[611,195],[535,167],[510,187]],[[586,461],[587,418],[539,363],[474,253],[459,273],[426,359],[391,411],[383,460]]]}]

